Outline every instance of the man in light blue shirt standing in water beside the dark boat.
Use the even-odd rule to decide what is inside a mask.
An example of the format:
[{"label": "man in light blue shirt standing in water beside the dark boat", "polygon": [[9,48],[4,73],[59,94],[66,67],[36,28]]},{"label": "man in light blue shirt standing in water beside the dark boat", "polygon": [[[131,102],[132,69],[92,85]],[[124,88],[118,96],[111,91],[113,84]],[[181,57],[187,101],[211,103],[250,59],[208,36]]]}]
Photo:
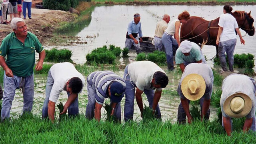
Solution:
[{"label": "man in light blue shirt standing in water beside the dark boat", "polygon": [[141,32],[141,23],[140,23],[140,14],[136,13],[133,16],[133,20],[128,24],[125,48],[131,48],[132,44],[134,45],[137,54],[140,53],[140,43],[138,34],[140,36],[140,42],[142,42],[142,32]]}]

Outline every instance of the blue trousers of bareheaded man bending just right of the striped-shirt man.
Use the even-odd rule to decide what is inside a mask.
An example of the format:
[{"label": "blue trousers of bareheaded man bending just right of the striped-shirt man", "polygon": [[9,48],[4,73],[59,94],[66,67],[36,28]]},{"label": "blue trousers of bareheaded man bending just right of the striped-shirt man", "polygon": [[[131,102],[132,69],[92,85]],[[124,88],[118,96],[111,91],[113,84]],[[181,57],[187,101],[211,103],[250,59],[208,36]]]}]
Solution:
[{"label": "blue trousers of bareheaded man bending just right of the striped-shirt man", "polygon": [[[132,82],[130,75],[128,74],[128,65],[124,69],[124,81],[126,84],[125,102],[124,102],[124,121],[126,122],[128,120],[133,119],[135,87],[136,87],[134,82]],[[155,90],[144,89],[144,93],[148,98],[148,103],[150,108],[152,108]],[[161,112],[158,104],[156,106],[156,118],[161,119]]]}]

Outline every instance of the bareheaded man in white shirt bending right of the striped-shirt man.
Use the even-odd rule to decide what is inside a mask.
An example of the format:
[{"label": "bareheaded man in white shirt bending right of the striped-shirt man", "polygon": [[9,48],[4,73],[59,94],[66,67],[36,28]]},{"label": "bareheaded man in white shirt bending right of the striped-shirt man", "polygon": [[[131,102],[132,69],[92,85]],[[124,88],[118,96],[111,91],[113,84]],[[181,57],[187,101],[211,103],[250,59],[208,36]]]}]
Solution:
[{"label": "bareheaded man in white shirt bending right of the striped-shirt man", "polygon": [[143,102],[141,95],[143,92],[146,94],[149,106],[155,112],[156,118],[161,119],[158,102],[161,98],[162,88],[165,88],[168,84],[168,76],[166,76],[164,70],[154,62],[132,62],[124,69],[124,81],[126,83],[124,120],[133,119],[134,93],[142,116]]}]

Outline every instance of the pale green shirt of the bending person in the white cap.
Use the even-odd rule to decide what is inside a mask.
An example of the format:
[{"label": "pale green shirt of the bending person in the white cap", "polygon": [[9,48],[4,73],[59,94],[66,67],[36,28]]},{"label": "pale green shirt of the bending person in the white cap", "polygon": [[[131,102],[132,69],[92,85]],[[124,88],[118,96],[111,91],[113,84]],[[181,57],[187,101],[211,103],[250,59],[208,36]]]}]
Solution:
[{"label": "pale green shirt of the bending person in the white cap", "polygon": [[176,55],[175,55],[175,62],[176,62],[176,64],[182,64],[184,62],[191,63],[191,62],[202,60],[200,46],[198,46],[194,42],[191,42],[191,43],[192,43],[192,48],[191,48],[190,54],[188,56],[185,56],[181,52],[180,48],[177,49]]}]

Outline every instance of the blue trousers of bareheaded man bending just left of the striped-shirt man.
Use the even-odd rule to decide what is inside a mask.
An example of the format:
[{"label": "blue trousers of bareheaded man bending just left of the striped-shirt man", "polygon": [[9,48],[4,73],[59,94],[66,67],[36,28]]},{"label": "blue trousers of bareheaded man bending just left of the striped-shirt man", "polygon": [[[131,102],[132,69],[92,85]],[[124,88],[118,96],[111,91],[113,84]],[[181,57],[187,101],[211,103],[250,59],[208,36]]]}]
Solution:
[{"label": "blue trousers of bareheaded man bending just left of the striped-shirt man", "polygon": [[[42,118],[48,117],[48,103],[49,103],[49,97],[50,97],[53,84],[54,84],[54,79],[52,78],[51,71],[49,70],[47,82],[46,82],[46,92],[45,92],[46,97],[45,97],[44,105],[42,109]],[[67,92],[67,94],[69,97],[70,96],[69,92]],[[74,102],[72,102],[72,104],[70,104],[70,106],[68,107],[68,116],[76,116],[78,115],[78,112],[79,112],[79,109],[78,109],[78,96],[77,96]]]}]

